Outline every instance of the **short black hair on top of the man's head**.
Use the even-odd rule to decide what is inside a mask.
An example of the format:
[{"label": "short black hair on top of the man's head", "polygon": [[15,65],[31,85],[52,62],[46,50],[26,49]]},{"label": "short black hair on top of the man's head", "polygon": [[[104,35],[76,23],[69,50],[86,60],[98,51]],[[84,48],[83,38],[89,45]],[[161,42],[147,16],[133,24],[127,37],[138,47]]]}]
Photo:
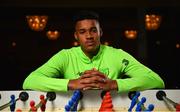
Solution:
[{"label": "short black hair on top of the man's head", "polygon": [[81,10],[73,17],[73,22],[76,24],[77,21],[84,19],[95,19],[99,22],[99,14],[94,11]]}]

